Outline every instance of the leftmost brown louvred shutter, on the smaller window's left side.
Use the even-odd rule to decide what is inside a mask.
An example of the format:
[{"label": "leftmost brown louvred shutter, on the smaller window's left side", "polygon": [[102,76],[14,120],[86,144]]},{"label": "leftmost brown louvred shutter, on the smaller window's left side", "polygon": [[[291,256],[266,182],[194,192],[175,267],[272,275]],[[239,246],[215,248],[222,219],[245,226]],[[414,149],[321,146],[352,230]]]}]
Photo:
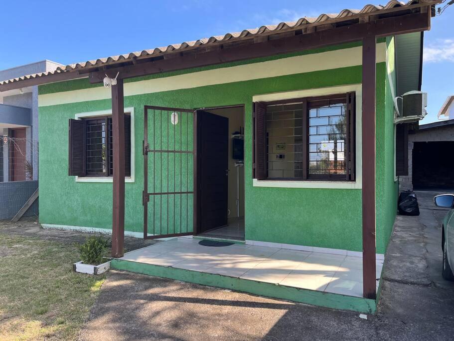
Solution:
[{"label": "leftmost brown louvred shutter, on the smaller window's left side", "polygon": [[84,120],[69,120],[69,175],[86,175],[86,126]]}]

